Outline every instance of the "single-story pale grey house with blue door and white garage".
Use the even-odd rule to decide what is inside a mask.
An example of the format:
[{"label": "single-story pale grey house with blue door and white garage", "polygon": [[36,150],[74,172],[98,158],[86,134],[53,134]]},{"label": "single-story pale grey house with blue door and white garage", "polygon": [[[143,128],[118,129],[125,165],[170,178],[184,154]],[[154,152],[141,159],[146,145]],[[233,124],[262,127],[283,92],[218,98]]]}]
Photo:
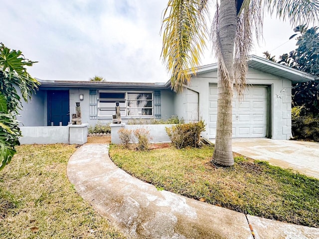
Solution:
[{"label": "single-story pale grey house with blue door and white garage", "polygon": [[[233,101],[233,137],[291,137],[292,84],[315,80],[305,72],[267,59],[250,56],[244,100]],[[186,121],[204,119],[203,136],[215,138],[217,114],[217,64],[201,66],[180,94],[166,83],[128,83],[39,80],[41,86],[19,119],[23,126],[67,125],[80,103],[82,123],[112,122],[116,102],[121,118]]]}]

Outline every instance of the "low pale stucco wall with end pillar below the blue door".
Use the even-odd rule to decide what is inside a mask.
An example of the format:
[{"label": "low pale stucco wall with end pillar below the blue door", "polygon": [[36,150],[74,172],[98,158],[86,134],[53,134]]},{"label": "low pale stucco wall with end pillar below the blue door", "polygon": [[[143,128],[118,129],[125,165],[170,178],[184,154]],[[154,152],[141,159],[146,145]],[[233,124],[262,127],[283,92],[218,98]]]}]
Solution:
[{"label": "low pale stucco wall with end pillar below the blue door", "polygon": [[70,143],[84,144],[87,141],[88,123],[67,126],[26,126],[20,127],[20,144]]}]

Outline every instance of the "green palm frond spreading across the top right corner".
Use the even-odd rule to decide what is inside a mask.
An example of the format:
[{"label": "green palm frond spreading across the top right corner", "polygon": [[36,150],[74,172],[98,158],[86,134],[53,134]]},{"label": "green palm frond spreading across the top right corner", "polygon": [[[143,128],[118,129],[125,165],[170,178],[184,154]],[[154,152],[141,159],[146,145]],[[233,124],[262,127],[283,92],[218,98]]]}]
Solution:
[{"label": "green palm frond spreading across the top right corner", "polygon": [[292,25],[319,20],[319,0],[267,0],[265,6],[270,13],[288,19]]}]

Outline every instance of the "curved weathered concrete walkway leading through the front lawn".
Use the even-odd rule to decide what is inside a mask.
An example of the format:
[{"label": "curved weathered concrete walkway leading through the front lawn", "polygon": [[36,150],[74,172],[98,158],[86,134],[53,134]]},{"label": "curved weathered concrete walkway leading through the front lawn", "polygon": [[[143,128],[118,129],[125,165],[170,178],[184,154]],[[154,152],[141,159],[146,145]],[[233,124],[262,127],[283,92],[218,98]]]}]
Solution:
[{"label": "curved weathered concrete walkway leading through the front lawn", "polygon": [[[67,175],[77,192],[128,238],[317,239],[319,229],[209,205],[138,180],[109,158],[108,145],[82,145]],[[249,222],[249,224],[248,224]]]}]

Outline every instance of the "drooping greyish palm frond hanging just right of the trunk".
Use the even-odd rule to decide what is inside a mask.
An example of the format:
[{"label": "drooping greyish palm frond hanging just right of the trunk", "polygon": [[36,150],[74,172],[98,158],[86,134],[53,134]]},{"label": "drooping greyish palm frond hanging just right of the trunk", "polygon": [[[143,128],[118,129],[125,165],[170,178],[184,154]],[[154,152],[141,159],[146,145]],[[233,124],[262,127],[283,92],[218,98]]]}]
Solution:
[{"label": "drooping greyish palm frond hanging just right of the trunk", "polygon": [[262,35],[263,7],[261,0],[244,0],[237,15],[237,31],[235,37],[235,85],[237,97],[241,101],[247,84],[249,52],[253,47],[253,36],[257,40]]}]

